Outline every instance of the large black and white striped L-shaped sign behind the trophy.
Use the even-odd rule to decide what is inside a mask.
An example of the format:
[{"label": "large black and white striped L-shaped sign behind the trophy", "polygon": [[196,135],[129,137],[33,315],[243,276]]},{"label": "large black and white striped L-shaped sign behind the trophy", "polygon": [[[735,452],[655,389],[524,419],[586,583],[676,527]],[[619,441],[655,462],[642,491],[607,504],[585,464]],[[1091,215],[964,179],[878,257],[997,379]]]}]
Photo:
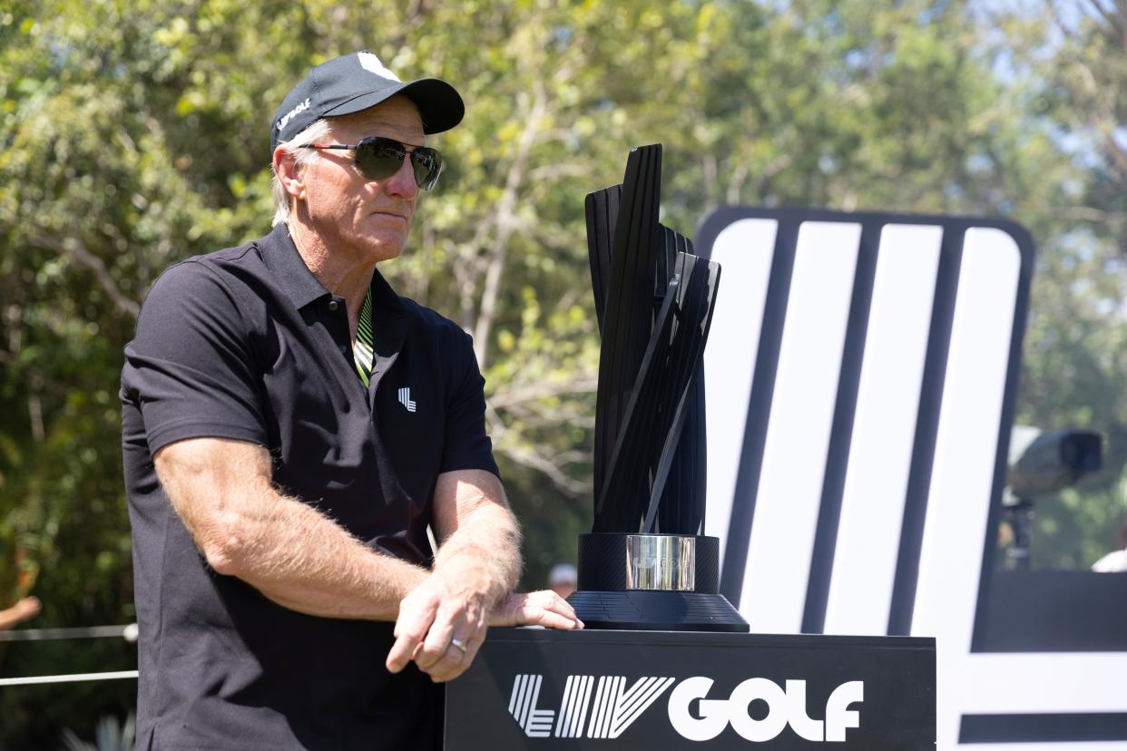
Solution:
[{"label": "large black and white striped L-shaped sign behind the trophy", "polygon": [[940,749],[1127,748],[1127,574],[994,571],[1028,232],[733,207],[696,249],[706,533],[752,632],[934,636]]}]

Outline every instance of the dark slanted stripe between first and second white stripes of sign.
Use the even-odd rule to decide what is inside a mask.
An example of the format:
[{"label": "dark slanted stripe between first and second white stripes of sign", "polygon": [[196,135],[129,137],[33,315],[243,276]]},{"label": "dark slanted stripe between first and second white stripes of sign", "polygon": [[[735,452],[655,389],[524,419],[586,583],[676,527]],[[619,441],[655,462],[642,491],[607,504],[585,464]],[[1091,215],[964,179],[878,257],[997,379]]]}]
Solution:
[{"label": "dark slanted stripe between first and second white stripes of sign", "polygon": [[779,348],[790,298],[790,280],[795,271],[795,251],[801,222],[780,220],[775,234],[774,257],[767,279],[767,296],[763,303],[763,325],[760,347],[755,355],[752,393],[747,401],[747,421],[744,423],[744,449],[736,472],[736,490],[731,498],[731,518],[728,524],[728,544],[724,551],[720,574],[720,593],[735,607],[744,589],[744,570],[747,566],[747,546],[755,516],[755,498],[763,471],[763,448],[771,418],[775,373],[779,369]]}]

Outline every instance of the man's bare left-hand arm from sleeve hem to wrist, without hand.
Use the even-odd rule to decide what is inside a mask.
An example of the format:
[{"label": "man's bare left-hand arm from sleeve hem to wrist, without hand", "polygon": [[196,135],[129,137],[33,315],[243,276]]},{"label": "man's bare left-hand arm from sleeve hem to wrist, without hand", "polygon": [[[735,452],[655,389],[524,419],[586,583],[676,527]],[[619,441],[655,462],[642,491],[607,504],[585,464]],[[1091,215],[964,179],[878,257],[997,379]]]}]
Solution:
[{"label": "man's bare left-hand arm from sleeve hem to wrist, without hand", "polygon": [[402,598],[426,579],[426,570],[369,549],[316,509],[279,494],[261,447],[220,439],[184,444],[158,455],[158,473],[219,573],[293,610],[378,620],[394,620]]}]

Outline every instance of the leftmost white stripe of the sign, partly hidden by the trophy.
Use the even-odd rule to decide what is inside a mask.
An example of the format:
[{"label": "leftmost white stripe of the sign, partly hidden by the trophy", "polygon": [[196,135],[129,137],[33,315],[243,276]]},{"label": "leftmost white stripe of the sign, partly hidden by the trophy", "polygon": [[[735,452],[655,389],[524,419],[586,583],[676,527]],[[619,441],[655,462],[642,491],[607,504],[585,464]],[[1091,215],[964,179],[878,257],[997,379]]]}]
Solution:
[{"label": "leftmost white stripe of the sign, partly hidden by the trophy", "polygon": [[778,227],[774,220],[740,220],[725,227],[712,243],[711,260],[720,263],[720,287],[704,348],[704,534],[720,538],[721,563]]}]

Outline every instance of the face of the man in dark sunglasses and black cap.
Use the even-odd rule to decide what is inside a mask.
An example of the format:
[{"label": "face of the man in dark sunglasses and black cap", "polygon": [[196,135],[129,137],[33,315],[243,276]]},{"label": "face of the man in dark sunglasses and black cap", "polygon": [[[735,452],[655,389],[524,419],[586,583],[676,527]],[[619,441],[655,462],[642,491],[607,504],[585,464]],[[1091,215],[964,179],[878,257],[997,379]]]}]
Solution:
[{"label": "face of the man in dark sunglasses and black cap", "polygon": [[[375,107],[334,117],[332,135],[323,143],[360,143],[367,136],[394,138],[408,146],[426,143],[423,118],[405,97],[392,97]],[[410,160],[391,177],[371,180],[353,164],[355,152],[319,151],[304,168],[304,205],[308,222],[329,253],[345,262],[379,262],[403,252],[419,188]]]}]

